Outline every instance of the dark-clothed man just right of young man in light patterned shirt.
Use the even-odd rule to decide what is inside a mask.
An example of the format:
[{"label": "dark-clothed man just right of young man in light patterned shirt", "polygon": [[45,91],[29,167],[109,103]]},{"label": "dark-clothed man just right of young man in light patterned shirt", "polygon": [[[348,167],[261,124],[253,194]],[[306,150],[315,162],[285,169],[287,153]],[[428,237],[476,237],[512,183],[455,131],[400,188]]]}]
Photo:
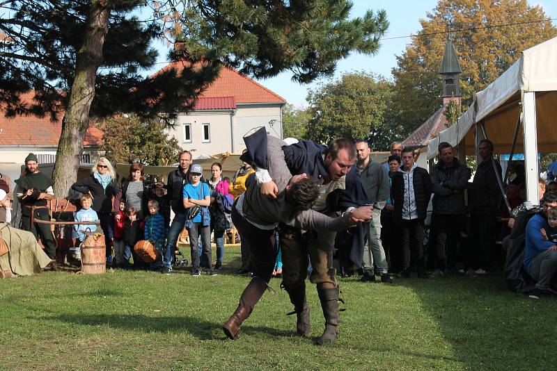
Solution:
[{"label": "dark-clothed man just right of young man in light patterned shirt", "polygon": [[[464,190],[468,186],[471,172],[466,165],[455,158],[453,146],[447,142],[439,144],[439,163],[432,167],[430,176],[433,190],[433,218],[430,234],[431,251],[428,257],[437,256],[437,269],[433,277],[444,275],[447,255],[453,261],[455,242],[457,241],[466,205],[464,204]],[[437,254],[434,254],[433,249]]]}]

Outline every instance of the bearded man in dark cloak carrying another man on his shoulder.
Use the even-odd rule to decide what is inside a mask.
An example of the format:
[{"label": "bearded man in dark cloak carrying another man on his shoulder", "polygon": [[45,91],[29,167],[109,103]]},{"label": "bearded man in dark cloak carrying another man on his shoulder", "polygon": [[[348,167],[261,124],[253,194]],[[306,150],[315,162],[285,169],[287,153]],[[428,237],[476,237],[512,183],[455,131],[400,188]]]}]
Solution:
[{"label": "bearded man in dark cloak carrying another man on his shoulder", "polygon": [[[278,189],[272,179],[274,174],[267,171],[267,147],[271,151],[272,147],[277,146],[275,139],[267,136],[264,128],[244,138],[248,149],[244,160],[252,162],[258,168],[256,177],[261,192],[272,198],[277,197]],[[338,215],[340,211],[350,213],[354,208],[368,203],[366,192],[353,168],[356,162],[356,147],[352,140],[340,138],[328,147],[301,140],[293,145],[283,146],[282,151],[291,174],[308,174],[317,180],[319,197],[312,206],[314,211],[325,215]],[[365,231],[359,223],[352,232],[351,238],[345,242],[345,248],[350,249],[348,255],[354,265],[360,267]],[[309,254],[313,268],[310,281],[317,286],[325,318],[325,330],[322,336],[315,340],[318,345],[334,342],[338,337],[339,289],[335,277],[336,270],[333,267],[335,236],[335,231],[317,233],[315,229],[308,229],[302,236],[299,229],[288,226],[281,228],[279,235],[283,258],[283,286],[290,296],[290,302],[294,304],[293,313],[297,313],[297,323],[300,322],[300,317],[306,316],[306,313],[309,315],[305,286]],[[306,333],[304,335],[307,336]]]}]

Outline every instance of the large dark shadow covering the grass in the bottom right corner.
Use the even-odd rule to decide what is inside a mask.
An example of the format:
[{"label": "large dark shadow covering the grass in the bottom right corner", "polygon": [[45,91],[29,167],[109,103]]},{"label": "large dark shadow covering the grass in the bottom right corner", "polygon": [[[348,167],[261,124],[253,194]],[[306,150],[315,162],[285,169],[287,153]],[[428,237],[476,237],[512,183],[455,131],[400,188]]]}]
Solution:
[{"label": "large dark shadow covering the grass in the bottom right corner", "polygon": [[[555,302],[531,302],[509,292],[501,274],[441,279],[398,280],[413,290],[423,309],[437,322],[453,347],[457,361],[471,370],[547,369],[540,338],[551,337],[557,325],[551,315]],[[528,301],[530,300],[530,301]],[[533,308],[534,306],[534,308]],[[536,308],[537,307],[537,308]],[[533,315],[544,318],[539,323]],[[545,329],[544,329],[545,327]]]}]

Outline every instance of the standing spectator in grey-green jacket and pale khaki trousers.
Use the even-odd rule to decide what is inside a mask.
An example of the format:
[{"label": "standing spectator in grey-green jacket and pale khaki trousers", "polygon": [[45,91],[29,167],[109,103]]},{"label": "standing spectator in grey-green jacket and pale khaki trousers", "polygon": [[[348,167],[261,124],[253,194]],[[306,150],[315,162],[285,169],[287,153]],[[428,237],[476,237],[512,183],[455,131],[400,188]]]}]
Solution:
[{"label": "standing spectator in grey-green jacket and pale khaki trousers", "polygon": [[389,265],[381,241],[381,211],[391,193],[389,174],[385,168],[371,159],[371,149],[366,140],[356,141],[358,174],[368,195],[372,209],[372,220],[367,222],[367,241],[363,246],[363,275],[360,281],[375,281],[374,263],[383,283],[392,283]]}]

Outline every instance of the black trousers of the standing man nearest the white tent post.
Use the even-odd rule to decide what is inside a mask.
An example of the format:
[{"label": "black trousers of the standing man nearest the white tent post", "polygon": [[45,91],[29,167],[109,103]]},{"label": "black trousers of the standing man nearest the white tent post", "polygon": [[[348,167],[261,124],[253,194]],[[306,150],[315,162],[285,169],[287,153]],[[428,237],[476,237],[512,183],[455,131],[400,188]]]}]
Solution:
[{"label": "black trousers of the standing man nearest the white tent post", "polygon": [[494,263],[497,218],[495,215],[471,215],[464,269],[489,270]]}]

